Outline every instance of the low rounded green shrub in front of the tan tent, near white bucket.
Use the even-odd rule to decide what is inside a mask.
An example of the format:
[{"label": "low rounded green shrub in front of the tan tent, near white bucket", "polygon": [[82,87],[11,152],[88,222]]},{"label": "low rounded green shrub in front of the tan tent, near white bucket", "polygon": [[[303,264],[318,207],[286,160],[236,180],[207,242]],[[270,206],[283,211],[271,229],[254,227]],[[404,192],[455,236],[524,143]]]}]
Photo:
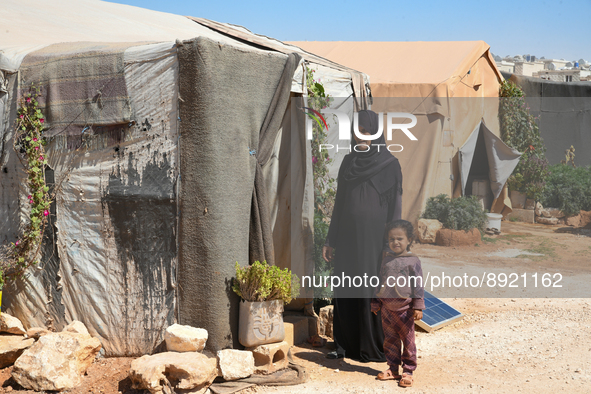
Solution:
[{"label": "low rounded green shrub in front of the tan tent, near white bucket", "polygon": [[484,230],[488,221],[486,211],[475,196],[450,199],[445,194],[430,197],[421,217],[437,219],[445,228],[464,231]]}]

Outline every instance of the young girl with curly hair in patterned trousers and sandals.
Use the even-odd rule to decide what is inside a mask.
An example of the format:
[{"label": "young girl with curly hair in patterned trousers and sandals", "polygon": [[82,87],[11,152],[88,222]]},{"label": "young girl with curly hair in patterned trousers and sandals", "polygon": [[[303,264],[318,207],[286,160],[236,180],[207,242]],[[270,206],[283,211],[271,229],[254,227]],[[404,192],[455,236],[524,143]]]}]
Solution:
[{"label": "young girl with curly hair in patterned trousers and sandals", "polygon": [[417,368],[414,321],[423,317],[425,309],[421,261],[410,253],[413,238],[414,228],[406,220],[386,225],[388,248],[382,259],[381,286],[371,303],[372,312],[382,311],[384,353],[389,366],[378,374],[378,379],[400,379],[401,387],[413,384],[412,374]]}]

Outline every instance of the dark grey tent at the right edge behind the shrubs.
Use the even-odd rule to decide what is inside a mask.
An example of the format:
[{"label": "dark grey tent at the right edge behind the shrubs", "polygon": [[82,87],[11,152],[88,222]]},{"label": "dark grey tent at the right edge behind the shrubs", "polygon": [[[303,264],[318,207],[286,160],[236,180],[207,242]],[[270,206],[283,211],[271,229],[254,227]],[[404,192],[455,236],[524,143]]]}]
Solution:
[{"label": "dark grey tent at the right edge behind the shrubs", "polygon": [[575,162],[591,165],[591,83],[555,82],[524,75],[508,74],[506,79],[525,93],[532,115],[539,117],[540,135],[550,164],[565,160],[565,150],[576,149]]}]

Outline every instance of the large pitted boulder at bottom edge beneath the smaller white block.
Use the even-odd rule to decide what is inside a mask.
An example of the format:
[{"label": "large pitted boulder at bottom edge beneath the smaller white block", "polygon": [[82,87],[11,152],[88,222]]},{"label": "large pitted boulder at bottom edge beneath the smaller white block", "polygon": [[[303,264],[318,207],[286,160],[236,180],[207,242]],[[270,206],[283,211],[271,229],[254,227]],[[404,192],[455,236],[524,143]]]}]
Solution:
[{"label": "large pitted boulder at bottom edge beneath the smaller white block", "polygon": [[217,359],[208,351],[146,355],[133,360],[129,369],[132,387],[152,394],[170,392],[168,385],[175,390],[204,393],[217,376]]}]

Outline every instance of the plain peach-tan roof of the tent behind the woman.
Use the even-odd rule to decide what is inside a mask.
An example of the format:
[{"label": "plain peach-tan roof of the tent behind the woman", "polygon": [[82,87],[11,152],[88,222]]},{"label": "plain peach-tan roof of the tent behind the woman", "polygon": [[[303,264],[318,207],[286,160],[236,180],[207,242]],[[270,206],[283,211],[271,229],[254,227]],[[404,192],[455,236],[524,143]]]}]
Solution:
[{"label": "plain peach-tan roof of the tent behind the woman", "polygon": [[[484,41],[289,43],[360,70],[371,77],[372,84],[440,84],[465,75],[484,54],[490,57],[490,47]],[[490,61],[494,65],[492,58]],[[498,70],[496,73],[502,79]]]}]

